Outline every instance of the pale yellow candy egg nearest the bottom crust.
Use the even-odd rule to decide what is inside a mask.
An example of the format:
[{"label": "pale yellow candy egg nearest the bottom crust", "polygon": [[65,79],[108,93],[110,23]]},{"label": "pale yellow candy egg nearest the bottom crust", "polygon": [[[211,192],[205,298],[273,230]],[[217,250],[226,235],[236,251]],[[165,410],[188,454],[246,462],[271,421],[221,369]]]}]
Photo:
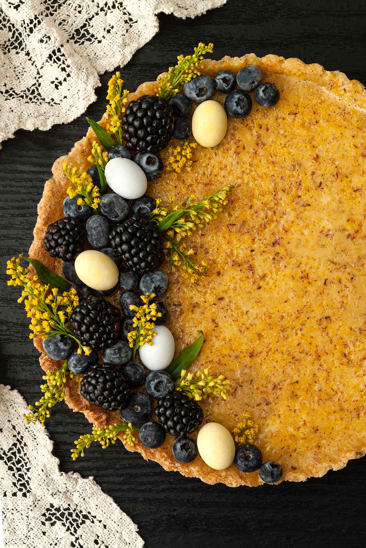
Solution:
[{"label": "pale yellow candy egg nearest the bottom crust", "polygon": [[214,470],[224,470],[233,463],[234,439],[222,424],[207,423],[202,426],[197,436],[197,447],[202,460]]}]

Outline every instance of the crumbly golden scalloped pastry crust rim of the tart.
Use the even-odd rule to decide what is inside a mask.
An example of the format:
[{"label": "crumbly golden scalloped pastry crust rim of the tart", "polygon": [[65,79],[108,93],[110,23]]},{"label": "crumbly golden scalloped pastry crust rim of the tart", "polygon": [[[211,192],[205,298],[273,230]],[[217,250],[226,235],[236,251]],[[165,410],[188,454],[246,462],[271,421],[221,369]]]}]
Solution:
[{"label": "crumbly golden scalloped pastry crust rim of the tart", "polygon": [[[247,65],[259,65],[264,71],[282,73],[285,76],[297,78],[307,82],[311,82],[314,85],[326,89],[332,95],[338,97],[342,101],[345,101],[349,107],[359,108],[366,110],[366,90],[361,82],[357,80],[350,80],[347,76],[339,71],[326,71],[319,64],[306,65],[303,61],[297,58],[284,59],[277,55],[266,55],[262,58],[258,58],[255,54],[249,53],[241,58],[231,58],[225,56],[220,61],[213,61],[206,59],[202,61],[202,72],[208,73],[211,76],[219,70],[229,68],[230,70],[237,71],[240,68]],[[141,84],[135,93],[131,93],[128,96],[128,101],[138,98],[143,94],[155,93],[158,90],[157,82],[146,82]],[[101,124],[106,122],[106,115],[104,114],[101,119]],[[30,247],[29,254],[31,257],[36,258],[43,262],[45,266],[50,269],[54,269],[56,260],[52,259],[50,255],[45,251],[43,247],[43,238],[47,230],[47,226],[55,219],[59,219],[63,216],[62,201],[66,196],[66,189],[68,186],[66,175],[62,170],[62,162],[73,163],[73,157],[82,155],[84,158],[85,166],[80,166],[86,169],[89,163],[86,161],[88,157],[92,141],[95,139],[94,133],[89,128],[86,136],[75,143],[71,152],[68,155],[58,158],[52,168],[54,177],[49,179],[44,186],[43,196],[38,204],[38,219],[36,226],[34,227],[33,243]],[[34,339],[34,346],[41,353],[39,357],[40,366],[44,371],[54,370],[60,367],[61,362],[55,362],[49,358],[43,351],[42,340]],[[79,390],[79,378],[75,376],[72,380],[68,381],[66,387],[65,402],[68,407],[74,412],[81,412],[85,415],[86,419],[95,426],[104,426],[106,424],[113,424],[115,419],[113,414],[106,412],[101,408],[92,406],[82,396],[80,396]],[[123,439],[120,436],[121,441]],[[208,467],[201,461],[200,463],[191,463],[183,465],[178,463],[169,450],[165,450],[164,446],[159,449],[148,449],[142,446],[141,443],[131,448],[125,446],[126,449],[131,451],[137,451],[141,453],[144,459],[154,460],[159,463],[167,471],[178,471],[183,476],[187,477],[199,477],[202,481],[208,484],[224,483],[229,487],[237,487],[240,485],[257,486],[263,482],[259,481],[250,483],[246,481],[247,475],[239,472],[234,465],[231,465],[229,469],[216,471]],[[297,470],[288,470],[284,473],[282,481],[305,481],[308,477],[321,477],[328,470],[340,470],[346,466],[348,460],[357,459],[366,454],[366,447],[361,451],[350,451],[343,455],[339,455],[339,458],[335,461],[329,461],[328,463],[315,463],[309,473],[306,475],[303,472]]]}]

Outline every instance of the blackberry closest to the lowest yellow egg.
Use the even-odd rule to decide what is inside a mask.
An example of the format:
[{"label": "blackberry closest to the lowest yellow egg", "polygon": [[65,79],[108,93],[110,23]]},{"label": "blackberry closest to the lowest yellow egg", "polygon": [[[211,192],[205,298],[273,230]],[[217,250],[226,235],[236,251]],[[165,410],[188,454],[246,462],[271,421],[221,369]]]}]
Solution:
[{"label": "blackberry closest to the lowest yellow egg", "polygon": [[191,434],[204,418],[199,404],[178,390],[158,399],[155,415],[164,430],[175,437]]}]

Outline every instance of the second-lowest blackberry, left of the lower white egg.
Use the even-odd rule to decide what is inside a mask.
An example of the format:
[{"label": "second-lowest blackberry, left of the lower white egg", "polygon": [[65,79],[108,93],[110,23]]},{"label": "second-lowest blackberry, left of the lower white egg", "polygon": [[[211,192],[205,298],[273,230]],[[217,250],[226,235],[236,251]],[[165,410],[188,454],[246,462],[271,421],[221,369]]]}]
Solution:
[{"label": "second-lowest blackberry, left of the lower white egg", "polygon": [[96,364],[83,376],[80,394],[94,405],[117,411],[129,401],[125,376],[110,363]]}]

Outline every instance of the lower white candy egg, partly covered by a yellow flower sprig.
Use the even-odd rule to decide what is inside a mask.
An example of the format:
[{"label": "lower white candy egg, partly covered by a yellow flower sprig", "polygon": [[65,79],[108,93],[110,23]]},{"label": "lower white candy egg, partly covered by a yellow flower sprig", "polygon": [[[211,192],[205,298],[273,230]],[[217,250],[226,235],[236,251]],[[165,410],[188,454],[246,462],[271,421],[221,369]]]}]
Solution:
[{"label": "lower white candy egg, partly covered by a yellow flower sprig", "polygon": [[138,349],[140,359],[150,371],[158,371],[169,366],[174,357],[175,342],[170,330],[165,326],[155,326],[153,346],[144,344]]}]

